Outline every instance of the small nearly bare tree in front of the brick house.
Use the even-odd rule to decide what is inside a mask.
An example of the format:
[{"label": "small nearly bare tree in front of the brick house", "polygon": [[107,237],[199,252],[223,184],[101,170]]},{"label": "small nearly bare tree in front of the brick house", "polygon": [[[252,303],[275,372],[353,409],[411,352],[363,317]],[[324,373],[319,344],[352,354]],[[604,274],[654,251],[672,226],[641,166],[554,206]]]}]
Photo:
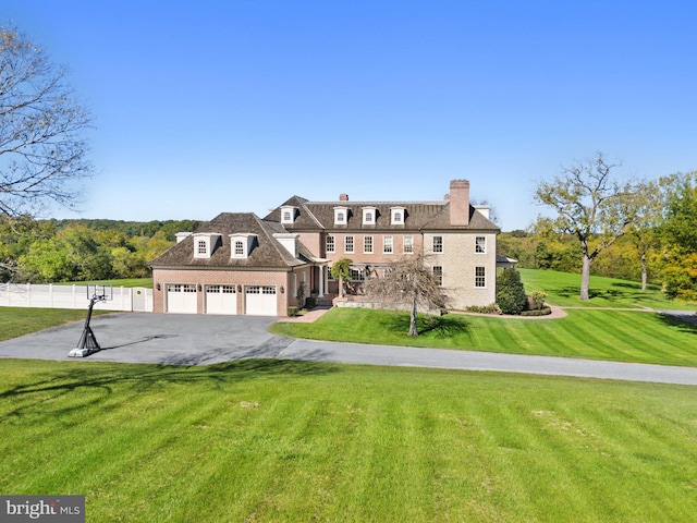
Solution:
[{"label": "small nearly bare tree in front of the brick house", "polygon": [[419,305],[426,308],[443,308],[445,296],[441,292],[433,269],[424,263],[423,256],[404,258],[390,264],[383,278],[366,280],[366,293],[392,302],[409,304],[409,336],[418,336],[416,317]]}]

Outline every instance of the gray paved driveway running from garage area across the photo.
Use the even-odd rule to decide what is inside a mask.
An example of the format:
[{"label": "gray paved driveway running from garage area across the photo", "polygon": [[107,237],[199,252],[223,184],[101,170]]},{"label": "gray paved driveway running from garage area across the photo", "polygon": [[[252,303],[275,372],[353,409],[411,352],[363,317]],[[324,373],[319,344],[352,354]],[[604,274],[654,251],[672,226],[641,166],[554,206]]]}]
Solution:
[{"label": "gray paved driveway running from garage area across the photo", "polygon": [[83,330],[83,321],[78,321],[0,342],[0,357],[174,365],[273,357],[697,386],[697,368],[694,367],[292,340],[268,332],[268,327],[276,319],[137,313],[97,316],[93,318],[91,327],[102,350],[90,356],[68,357]]}]

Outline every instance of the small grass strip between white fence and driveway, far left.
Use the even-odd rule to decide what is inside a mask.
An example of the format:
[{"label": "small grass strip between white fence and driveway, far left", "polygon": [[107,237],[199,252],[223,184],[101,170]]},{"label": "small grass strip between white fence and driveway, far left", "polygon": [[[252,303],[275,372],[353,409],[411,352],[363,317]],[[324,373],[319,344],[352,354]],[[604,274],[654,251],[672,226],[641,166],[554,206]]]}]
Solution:
[{"label": "small grass strip between white fence and driveway, far left", "polygon": [[[109,311],[93,312],[93,316],[100,314],[109,314]],[[0,341],[30,335],[50,327],[58,327],[69,321],[84,320],[86,315],[86,308],[78,311],[68,308],[0,307]]]}]

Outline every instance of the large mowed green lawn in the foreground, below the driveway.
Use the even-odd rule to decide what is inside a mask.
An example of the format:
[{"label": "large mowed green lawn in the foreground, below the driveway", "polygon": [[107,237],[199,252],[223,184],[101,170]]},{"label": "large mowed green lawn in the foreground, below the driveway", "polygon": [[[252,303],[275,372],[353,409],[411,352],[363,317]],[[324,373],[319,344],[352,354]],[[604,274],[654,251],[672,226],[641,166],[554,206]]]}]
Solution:
[{"label": "large mowed green lawn in the foreground, below the driveway", "polygon": [[693,521],[694,388],[246,361],[0,362],[0,491],[93,522]]}]

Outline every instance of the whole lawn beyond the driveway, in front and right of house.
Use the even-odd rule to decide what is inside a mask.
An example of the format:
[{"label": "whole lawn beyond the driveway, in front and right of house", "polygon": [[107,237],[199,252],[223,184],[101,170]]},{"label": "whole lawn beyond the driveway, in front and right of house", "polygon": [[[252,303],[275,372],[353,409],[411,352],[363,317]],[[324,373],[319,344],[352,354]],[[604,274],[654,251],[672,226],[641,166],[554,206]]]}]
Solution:
[{"label": "whole lawn beyond the driveway, in front and right of house", "polygon": [[271,330],[356,343],[697,366],[697,324],[646,312],[646,307],[694,311],[697,305],[669,302],[656,289],[643,293],[636,283],[600,277],[591,279],[594,297],[584,304],[577,297],[578,275],[529,269],[521,273],[528,292],[541,290],[549,303],[582,308],[568,309],[568,316],[558,319],[420,316],[417,338],[407,336],[406,313],[352,308],[332,309],[314,324],[276,324]]}]

